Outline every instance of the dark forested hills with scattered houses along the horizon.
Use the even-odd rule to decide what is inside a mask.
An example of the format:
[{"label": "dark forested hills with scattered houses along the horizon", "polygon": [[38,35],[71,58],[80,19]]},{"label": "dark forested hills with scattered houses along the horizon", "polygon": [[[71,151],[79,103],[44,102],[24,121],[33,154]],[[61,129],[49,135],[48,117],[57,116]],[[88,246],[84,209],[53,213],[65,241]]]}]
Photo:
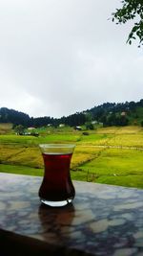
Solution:
[{"label": "dark forested hills with scattered houses along the horizon", "polygon": [[83,110],[82,112],[76,112],[67,117],[63,116],[58,119],[50,116],[33,118],[26,113],[7,107],[1,107],[0,123],[10,123],[13,124],[13,126],[22,125],[25,128],[38,128],[48,125],[57,127],[60,124],[75,127],[92,123],[100,123],[103,127],[143,126],[143,100],[137,103],[104,103],[103,105],[97,105],[90,109]]}]

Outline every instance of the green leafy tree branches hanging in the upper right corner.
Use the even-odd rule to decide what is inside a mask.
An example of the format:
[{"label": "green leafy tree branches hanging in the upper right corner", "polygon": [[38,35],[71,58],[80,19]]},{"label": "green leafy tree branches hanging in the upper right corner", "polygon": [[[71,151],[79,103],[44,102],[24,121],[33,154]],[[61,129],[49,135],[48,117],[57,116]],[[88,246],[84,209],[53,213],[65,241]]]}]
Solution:
[{"label": "green leafy tree branches hanging in the upper right corner", "polygon": [[130,32],[127,42],[132,44],[133,39],[139,39],[139,45],[143,45],[143,0],[122,0],[122,8],[112,13],[112,21],[116,24],[124,24],[133,20],[133,29]]}]

